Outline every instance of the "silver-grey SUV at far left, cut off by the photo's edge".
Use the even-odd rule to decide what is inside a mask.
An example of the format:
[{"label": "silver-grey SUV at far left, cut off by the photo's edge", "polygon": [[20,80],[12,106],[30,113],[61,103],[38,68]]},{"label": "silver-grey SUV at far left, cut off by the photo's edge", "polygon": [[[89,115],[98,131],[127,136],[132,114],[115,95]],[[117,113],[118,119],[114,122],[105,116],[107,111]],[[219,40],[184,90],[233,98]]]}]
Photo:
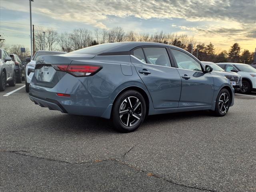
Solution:
[{"label": "silver-grey SUV at far left, cut off by the photo's edge", "polygon": [[15,86],[16,71],[12,58],[4,49],[0,49],[0,91],[4,91],[6,84]]}]

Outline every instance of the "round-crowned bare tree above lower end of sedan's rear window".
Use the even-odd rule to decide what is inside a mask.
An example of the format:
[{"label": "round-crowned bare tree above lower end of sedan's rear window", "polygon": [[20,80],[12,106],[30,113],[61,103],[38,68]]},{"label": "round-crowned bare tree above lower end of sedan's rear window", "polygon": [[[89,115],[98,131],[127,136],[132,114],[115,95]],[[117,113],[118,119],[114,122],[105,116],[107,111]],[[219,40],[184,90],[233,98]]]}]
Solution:
[{"label": "round-crowned bare tree above lower end of sedan's rear window", "polygon": [[92,43],[92,33],[87,29],[75,29],[71,35],[74,50],[88,47]]}]

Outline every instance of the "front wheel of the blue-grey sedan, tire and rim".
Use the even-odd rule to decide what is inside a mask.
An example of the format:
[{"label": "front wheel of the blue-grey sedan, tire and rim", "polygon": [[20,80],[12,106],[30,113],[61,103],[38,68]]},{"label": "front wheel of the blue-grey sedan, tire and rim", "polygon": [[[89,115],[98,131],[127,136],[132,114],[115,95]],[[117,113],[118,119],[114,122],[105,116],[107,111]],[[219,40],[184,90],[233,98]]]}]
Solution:
[{"label": "front wheel of the blue-grey sedan, tire and rim", "polygon": [[215,104],[215,116],[224,116],[228,113],[229,107],[230,107],[230,94],[227,89],[220,90],[217,98],[216,98],[216,104]]}]

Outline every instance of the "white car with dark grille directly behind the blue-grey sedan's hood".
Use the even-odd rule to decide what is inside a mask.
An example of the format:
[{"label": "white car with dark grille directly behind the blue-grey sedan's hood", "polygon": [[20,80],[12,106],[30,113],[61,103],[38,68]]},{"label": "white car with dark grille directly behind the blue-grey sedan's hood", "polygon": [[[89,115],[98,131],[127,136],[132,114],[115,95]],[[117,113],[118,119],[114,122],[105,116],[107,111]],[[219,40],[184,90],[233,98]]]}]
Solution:
[{"label": "white car with dark grille directly behind the blue-grey sedan's hood", "polygon": [[218,75],[224,76],[232,82],[232,86],[236,91],[242,87],[242,78],[236,72],[227,72],[214,62],[202,61],[203,66],[209,65],[213,68],[213,72]]}]

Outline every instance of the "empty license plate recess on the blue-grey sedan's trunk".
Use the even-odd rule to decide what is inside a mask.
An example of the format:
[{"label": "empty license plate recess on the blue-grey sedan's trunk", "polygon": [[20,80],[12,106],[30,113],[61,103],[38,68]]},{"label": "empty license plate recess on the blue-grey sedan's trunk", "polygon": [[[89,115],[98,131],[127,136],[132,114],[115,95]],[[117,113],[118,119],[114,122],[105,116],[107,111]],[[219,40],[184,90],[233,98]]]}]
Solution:
[{"label": "empty license plate recess on the blue-grey sedan's trunk", "polygon": [[56,70],[52,66],[42,66],[35,70],[35,78],[41,82],[52,82]]}]

